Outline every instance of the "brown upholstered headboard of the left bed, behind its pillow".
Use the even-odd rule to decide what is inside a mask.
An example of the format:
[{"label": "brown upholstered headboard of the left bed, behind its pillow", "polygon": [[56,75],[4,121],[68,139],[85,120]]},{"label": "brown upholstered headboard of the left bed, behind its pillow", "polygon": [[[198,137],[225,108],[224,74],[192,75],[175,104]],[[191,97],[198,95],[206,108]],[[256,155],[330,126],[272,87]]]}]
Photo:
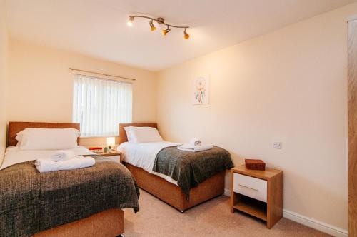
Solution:
[{"label": "brown upholstered headboard of the left bed, behind its pillow", "polygon": [[[80,131],[81,125],[79,123],[10,122],[7,133],[7,146],[16,146],[16,134],[25,128],[76,128]],[[77,144],[79,144],[79,138],[77,138]]]}]

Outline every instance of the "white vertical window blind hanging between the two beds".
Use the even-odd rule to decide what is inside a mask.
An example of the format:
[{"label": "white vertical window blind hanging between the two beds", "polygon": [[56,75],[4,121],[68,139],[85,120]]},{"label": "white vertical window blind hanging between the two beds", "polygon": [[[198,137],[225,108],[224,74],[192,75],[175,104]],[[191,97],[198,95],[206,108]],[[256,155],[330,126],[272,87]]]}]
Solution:
[{"label": "white vertical window blind hanging between the two beds", "polygon": [[72,121],[81,123],[81,137],[118,136],[131,109],[131,83],[74,74]]}]

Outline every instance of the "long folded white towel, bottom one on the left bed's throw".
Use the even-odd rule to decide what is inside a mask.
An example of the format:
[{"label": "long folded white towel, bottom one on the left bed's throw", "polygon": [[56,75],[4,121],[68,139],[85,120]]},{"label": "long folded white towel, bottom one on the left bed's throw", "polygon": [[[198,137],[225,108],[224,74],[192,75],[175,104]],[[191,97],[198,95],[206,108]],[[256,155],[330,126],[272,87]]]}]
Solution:
[{"label": "long folded white towel, bottom one on the left bed's throw", "polygon": [[67,161],[49,161],[47,159],[37,159],[35,166],[40,173],[49,172],[49,171],[65,171],[76,168],[86,168],[94,166],[96,161],[93,157],[87,156],[78,156],[76,158],[71,158]]}]

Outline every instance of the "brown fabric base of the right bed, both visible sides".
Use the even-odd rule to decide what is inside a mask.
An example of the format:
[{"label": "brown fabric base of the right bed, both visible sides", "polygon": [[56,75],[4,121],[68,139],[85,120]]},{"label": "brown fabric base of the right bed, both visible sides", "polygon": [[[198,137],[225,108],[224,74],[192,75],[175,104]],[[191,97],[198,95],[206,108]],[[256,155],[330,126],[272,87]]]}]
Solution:
[{"label": "brown fabric base of the right bed, both visible sides", "polygon": [[226,171],[216,173],[211,178],[198,184],[198,186],[191,188],[189,200],[187,201],[186,195],[180,187],[169,183],[164,178],[144,171],[142,168],[129,163],[124,163],[124,165],[131,171],[140,188],[181,212],[224,193],[224,176]]}]

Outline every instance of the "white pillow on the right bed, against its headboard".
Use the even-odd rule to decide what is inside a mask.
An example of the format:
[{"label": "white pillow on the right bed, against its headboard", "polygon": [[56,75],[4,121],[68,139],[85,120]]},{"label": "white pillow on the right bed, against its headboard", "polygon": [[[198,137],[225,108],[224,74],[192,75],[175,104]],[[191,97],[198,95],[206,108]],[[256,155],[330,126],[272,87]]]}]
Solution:
[{"label": "white pillow on the right bed, against its headboard", "polygon": [[[124,128],[125,129],[125,128]],[[159,131],[151,127],[126,127],[126,136],[130,143],[163,141]]]}]

